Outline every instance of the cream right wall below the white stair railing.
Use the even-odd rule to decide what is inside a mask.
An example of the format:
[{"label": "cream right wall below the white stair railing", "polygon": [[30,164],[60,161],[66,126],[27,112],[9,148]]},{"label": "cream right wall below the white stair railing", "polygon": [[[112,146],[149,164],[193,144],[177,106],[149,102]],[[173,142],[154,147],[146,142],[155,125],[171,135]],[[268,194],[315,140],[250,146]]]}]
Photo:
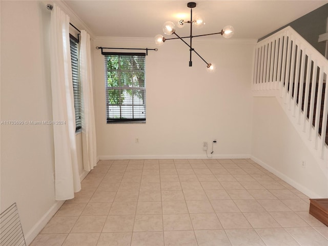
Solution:
[{"label": "cream right wall below the white stair railing", "polygon": [[254,97],[253,107],[252,159],[309,197],[326,198],[327,177],[277,99]]}]

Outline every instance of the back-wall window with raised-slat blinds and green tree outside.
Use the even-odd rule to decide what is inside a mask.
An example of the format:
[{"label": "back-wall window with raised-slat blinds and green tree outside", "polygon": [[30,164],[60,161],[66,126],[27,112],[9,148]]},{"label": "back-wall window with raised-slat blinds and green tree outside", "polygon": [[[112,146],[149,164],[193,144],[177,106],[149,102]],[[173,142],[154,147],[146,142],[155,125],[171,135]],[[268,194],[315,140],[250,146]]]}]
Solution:
[{"label": "back-wall window with raised-slat blinds and green tree outside", "polygon": [[146,54],[103,54],[107,123],[146,122]]}]

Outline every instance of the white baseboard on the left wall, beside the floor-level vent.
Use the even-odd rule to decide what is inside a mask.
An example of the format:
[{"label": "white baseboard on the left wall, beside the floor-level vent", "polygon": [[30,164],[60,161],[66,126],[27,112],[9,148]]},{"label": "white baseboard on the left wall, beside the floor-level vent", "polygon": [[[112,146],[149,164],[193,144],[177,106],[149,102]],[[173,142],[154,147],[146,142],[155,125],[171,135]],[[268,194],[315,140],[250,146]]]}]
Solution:
[{"label": "white baseboard on the left wall, beside the floor-level vent", "polygon": [[37,221],[37,223],[32,227],[32,229],[25,234],[26,244],[29,245],[37,234],[46,226],[52,216],[58,211],[58,209],[64,204],[65,201],[55,201],[53,206],[45,213],[45,215]]}]

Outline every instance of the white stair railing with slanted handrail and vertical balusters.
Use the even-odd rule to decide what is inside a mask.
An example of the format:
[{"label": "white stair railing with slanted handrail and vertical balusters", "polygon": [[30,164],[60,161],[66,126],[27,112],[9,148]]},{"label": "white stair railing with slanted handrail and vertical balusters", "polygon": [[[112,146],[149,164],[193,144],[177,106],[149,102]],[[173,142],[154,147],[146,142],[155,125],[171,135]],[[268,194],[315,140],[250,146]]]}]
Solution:
[{"label": "white stair railing with slanted handrail and vertical balusters", "polygon": [[261,40],[256,46],[253,95],[278,99],[325,173],[328,166],[327,74],[328,60],[291,27]]}]

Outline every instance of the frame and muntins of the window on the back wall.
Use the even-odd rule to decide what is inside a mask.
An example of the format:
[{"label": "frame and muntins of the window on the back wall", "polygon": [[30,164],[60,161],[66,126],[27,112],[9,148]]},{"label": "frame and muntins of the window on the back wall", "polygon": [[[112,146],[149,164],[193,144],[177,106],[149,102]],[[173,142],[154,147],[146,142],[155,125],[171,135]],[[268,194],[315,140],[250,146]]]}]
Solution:
[{"label": "frame and muntins of the window on the back wall", "polygon": [[[131,123],[146,123],[146,53],[122,53],[122,52],[102,52],[102,54],[104,55],[104,67],[105,67],[105,93],[106,93],[106,122],[107,124],[131,124]],[[143,57],[142,58],[142,64],[144,66],[142,66],[142,68],[140,69],[116,69],[117,73],[119,74],[119,83],[121,83],[120,80],[120,75],[121,73],[126,73],[126,72],[142,72],[143,73],[143,80],[142,83],[144,84],[144,87],[133,87],[133,86],[108,86],[108,73],[109,72],[113,72],[115,70],[109,70],[108,69],[108,57],[109,56],[119,56],[119,57],[124,57],[124,59],[130,58],[132,59],[133,56],[139,56],[139,57]],[[122,91],[128,91],[130,90],[132,93],[132,103],[130,104],[120,104],[120,105],[114,105],[114,104],[110,104],[110,97],[109,97],[109,91],[110,90],[117,90],[120,91],[120,95],[122,95]],[[133,98],[135,97],[135,93],[140,93],[142,94],[142,104],[134,104],[134,100]],[[113,118],[110,117],[110,106],[119,106],[120,107],[120,116],[119,118]],[[129,111],[125,111],[125,110],[121,110],[122,107],[131,107],[131,110]],[[138,118],[138,117],[134,117],[134,108],[135,107],[144,107],[144,110],[142,110],[142,114],[145,115],[145,117],[142,118]],[[132,117],[131,118],[122,118],[122,112],[129,112],[132,113]],[[137,111],[138,112],[138,111]],[[140,114],[140,113],[139,113]]]}]

